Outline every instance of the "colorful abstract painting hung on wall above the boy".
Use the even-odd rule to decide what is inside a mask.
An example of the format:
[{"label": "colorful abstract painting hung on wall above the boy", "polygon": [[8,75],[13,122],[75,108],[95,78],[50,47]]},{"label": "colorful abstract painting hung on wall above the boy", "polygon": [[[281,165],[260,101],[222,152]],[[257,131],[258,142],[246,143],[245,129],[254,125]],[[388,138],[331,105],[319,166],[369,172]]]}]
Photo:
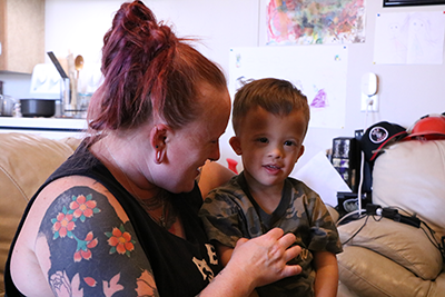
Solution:
[{"label": "colorful abstract painting hung on wall above the boy", "polygon": [[365,0],[268,0],[267,44],[365,42]]}]

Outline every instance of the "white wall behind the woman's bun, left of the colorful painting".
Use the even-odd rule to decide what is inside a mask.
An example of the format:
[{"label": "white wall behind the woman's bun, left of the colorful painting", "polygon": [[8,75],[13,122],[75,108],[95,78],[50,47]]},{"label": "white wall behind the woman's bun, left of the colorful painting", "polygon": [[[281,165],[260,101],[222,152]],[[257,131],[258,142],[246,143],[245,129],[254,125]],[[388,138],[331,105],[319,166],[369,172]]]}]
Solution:
[{"label": "white wall behind the woman's bun, left of the colorful painting", "polygon": [[[102,38],[122,0],[47,0],[46,51],[63,57],[82,55],[85,63],[100,62]],[[229,49],[258,44],[258,0],[146,0],[158,18],[180,37],[196,37],[197,49],[219,63],[228,76]],[[81,16],[81,17],[80,17]],[[49,58],[47,58],[47,62]],[[228,146],[231,127],[221,140],[221,162],[237,158]]]}]

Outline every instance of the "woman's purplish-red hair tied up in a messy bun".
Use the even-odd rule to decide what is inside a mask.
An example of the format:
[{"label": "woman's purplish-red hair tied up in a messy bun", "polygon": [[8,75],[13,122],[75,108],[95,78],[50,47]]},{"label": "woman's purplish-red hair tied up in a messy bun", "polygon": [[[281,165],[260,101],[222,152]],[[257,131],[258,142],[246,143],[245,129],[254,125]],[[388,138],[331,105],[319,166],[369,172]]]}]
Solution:
[{"label": "woman's purplish-red hair tied up in a messy bun", "polygon": [[142,2],[123,3],[103,37],[105,81],[91,99],[90,129],[135,128],[154,116],[174,128],[194,120],[202,110],[198,85],[222,89],[226,79],[186,41]]}]

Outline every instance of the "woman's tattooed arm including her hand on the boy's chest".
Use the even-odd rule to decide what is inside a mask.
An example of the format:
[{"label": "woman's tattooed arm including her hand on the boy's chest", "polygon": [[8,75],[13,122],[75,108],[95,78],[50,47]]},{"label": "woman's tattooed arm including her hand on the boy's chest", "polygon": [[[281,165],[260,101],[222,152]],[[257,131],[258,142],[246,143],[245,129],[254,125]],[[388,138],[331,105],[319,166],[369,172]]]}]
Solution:
[{"label": "woman's tattooed arm including her hand on the boy's chest", "polygon": [[[47,186],[26,219],[11,260],[24,296],[159,296],[150,264],[122,207],[86,177]],[[229,264],[200,296],[248,296],[255,287],[298,274],[286,263],[295,237],[273,229],[240,239]]]}]

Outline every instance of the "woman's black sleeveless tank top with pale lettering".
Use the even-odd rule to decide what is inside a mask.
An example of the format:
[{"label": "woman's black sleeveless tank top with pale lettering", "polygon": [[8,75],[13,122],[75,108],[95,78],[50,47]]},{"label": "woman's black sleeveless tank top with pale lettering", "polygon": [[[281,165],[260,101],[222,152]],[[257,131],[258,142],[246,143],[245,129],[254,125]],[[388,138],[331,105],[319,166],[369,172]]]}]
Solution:
[{"label": "woman's black sleeveless tank top with pale lettering", "polygon": [[137,240],[150,261],[160,296],[196,296],[221,269],[219,261],[215,261],[215,248],[209,244],[197,215],[202,204],[197,185],[190,192],[171,194],[171,204],[182,221],[187,238],[182,239],[157,225],[82,142],[77,151],[48,178],[27,206],[6,265],[6,296],[23,296],[11,279],[10,257],[36,197],[51,181],[75,175],[99,181],[122,206],[136,230]]}]

